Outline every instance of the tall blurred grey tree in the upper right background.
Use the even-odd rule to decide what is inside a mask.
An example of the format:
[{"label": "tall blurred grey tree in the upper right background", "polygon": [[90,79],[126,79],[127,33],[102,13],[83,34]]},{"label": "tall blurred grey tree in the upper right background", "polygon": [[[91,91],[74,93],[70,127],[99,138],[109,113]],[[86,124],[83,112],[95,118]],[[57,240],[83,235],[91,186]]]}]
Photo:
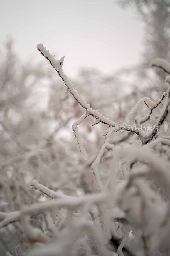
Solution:
[{"label": "tall blurred grey tree in the upper right background", "polygon": [[[118,4],[122,8],[129,6],[133,8],[136,18],[142,20],[144,24],[143,51],[138,74],[144,84],[147,82],[151,84],[151,78],[152,83],[156,78],[153,77],[153,74],[152,76],[148,75],[146,67],[154,58],[163,58],[167,61],[170,59],[170,3],[168,0],[119,0]],[[159,79],[164,82],[165,73],[157,70],[157,74]],[[165,83],[160,90],[165,91]]]}]

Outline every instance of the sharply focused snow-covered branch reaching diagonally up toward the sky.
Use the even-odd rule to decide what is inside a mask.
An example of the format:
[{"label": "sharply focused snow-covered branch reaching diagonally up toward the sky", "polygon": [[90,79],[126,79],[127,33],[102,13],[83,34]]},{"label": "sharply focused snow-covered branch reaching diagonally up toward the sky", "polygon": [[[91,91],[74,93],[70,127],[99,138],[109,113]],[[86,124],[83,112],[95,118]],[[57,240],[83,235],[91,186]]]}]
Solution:
[{"label": "sharply focused snow-covered branch reaching diagonally up toward the sky", "polygon": [[[103,123],[103,124],[107,124],[110,127],[117,127],[117,131],[120,130],[120,126],[123,125],[124,126],[124,130],[129,131],[128,129],[128,125],[130,124],[130,118],[132,117],[132,115],[135,113],[135,111],[137,110],[138,106],[142,103],[142,102],[148,102],[148,104],[150,104],[150,106],[152,106],[152,108],[154,108],[154,102],[152,102],[149,98],[145,97],[141,100],[139,100],[137,102],[137,104],[134,106],[134,108],[132,108],[131,112],[127,115],[126,117],[126,121],[125,124],[120,124],[120,123],[116,123],[106,117],[104,117],[103,115],[101,115],[99,113],[98,110],[93,110],[90,105],[82,99],[82,97],[78,94],[78,92],[74,89],[73,85],[71,84],[71,82],[68,80],[67,76],[64,74],[62,66],[63,66],[63,61],[64,61],[64,57],[62,57],[60,60],[56,61],[54,59],[54,56],[52,56],[48,50],[46,50],[46,48],[42,45],[42,44],[38,44],[37,45],[37,49],[41,52],[41,54],[50,62],[50,64],[52,65],[52,67],[57,71],[59,77],[63,80],[64,85],[68,88],[68,90],[71,92],[71,94],[73,95],[73,97],[75,98],[75,100],[86,110],[88,110],[88,115],[93,116],[94,118],[97,119],[97,123]],[[160,62],[159,62],[160,61]],[[160,65],[158,65],[160,64]],[[162,61],[162,60],[155,60],[152,62],[152,67],[157,66],[159,68],[165,69],[165,71],[167,72],[169,69],[169,64],[166,61]],[[169,65],[169,66],[168,66]],[[146,103],[147,104],[147,103]],[[164,106],[163,112],[159,115],[158,121],[155,125],[157,125],[158,127],[164,122],[164,120],[166,119],[167,116],[167,108],[169,107],[169,91],[167,92],[167,100],[166,100],[166,107]],[[164,111],[165,110],[165,111]],[[79,120],[78,123],[82,122],[82,118],[84,120],[84,118],[86,114],[84,114]],[[77,123],[77,125],[78,125]],[[95,123],[96,124],[96,123]],[[76,128],[76,123],[74,124],[74,128],[73,131],[75,132],[75,135],[77,136],[77,140],[78,140],[78,145],[80,148],[80,151],[82,152],[82,154],[85,156],[85,158],[87,157],[86,155],[86,151],[83,148],[82,142],[79,138],[78,132],[77,132],[77,128]],[[114,130],[115,132],[115,130]],[[134,132],[137,134],[137,136],[139,137],[139,139],[142,141],[143,144],[148,143],[149,141],[151,141],[154,136],[157,133],[157,130],[155,131],[154,129],[152,130],[152,132],[140,132],[140,131],[134,131],[134,130],[130,130],[130,132]]]}]

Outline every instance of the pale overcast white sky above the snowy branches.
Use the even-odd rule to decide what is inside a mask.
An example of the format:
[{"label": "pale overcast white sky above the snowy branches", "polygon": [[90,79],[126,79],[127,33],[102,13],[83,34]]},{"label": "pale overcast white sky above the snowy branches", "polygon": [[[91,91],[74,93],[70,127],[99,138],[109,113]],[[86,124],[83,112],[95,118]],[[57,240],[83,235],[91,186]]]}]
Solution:
[{"label": "pale overcast white sky above the snowy branches", "polygon": [[11,35],[21,57],[41,59],[36,45],[42,43],[66,56],[70,76],[80,66],[111,72],[133,65],[142,49],[142,23],[113,0],[1,0],[0,24],[1,44]]}]

